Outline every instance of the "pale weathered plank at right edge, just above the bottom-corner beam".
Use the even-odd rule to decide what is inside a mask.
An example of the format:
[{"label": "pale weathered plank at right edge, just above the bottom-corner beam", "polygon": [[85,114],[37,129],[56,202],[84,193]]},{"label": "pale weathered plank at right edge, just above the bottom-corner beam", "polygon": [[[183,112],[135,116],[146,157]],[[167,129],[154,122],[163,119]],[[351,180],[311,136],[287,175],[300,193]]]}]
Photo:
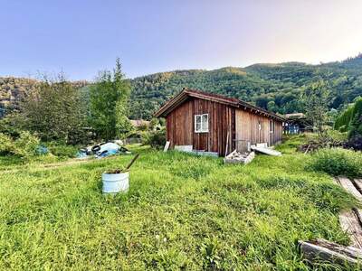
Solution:
[{"label": "pale weathered plank at right edge, just above the bottom-corner beam", "polygon": [[348,233],[352,246],[362,248],[362,228],[353,210],[345,210],[339,214],[340,227]]}]

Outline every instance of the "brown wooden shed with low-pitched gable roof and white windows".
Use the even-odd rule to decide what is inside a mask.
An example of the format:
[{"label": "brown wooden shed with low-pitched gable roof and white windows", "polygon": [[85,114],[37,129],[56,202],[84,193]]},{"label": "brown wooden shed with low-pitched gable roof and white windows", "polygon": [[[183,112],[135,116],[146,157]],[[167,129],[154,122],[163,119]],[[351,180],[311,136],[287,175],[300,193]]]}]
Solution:
[{"label": "brown wooden shed with low-pitched gable roof and white windows", "polygon": [[[161,107],[156,117],[167,120],[167,141],[196,151],[224,156],[234,149],[281,141],[284,119],[237,98],[183,89]],[[192,147],[191,147],[192,146]]]}]

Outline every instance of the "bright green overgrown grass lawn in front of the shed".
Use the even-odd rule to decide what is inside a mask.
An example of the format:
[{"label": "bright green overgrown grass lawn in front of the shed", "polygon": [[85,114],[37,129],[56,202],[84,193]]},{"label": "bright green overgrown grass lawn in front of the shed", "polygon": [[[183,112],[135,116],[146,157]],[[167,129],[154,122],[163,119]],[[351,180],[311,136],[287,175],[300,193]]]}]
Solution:
[{"label": "bright green overgrown grass lawn in front of the shed", "polygon": [[304,169],[300,140],[247,166],[138,146],[117,196],[102,195],[100,174],[129,155],[57,167],[3,157],[0,269],[308,269],[297,240],[348,244],[338,211],[354,201]]}]

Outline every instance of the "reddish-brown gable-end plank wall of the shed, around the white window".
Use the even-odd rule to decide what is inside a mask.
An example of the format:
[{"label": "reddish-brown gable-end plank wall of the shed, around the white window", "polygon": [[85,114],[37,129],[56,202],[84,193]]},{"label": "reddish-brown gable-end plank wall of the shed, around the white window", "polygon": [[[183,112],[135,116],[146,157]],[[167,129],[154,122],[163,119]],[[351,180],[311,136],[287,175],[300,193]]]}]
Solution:
[{"label": "reddish-brown gable-end plank wall of the shed, around the white window", "polygon": [[[167,140],[170,147],[193,145],[195,150],[225,154],[226,136],[228,152],[234,149],[235,109],[224,104],[199,98],[190,98],[167,115]],[[209,132],[195,133],[194,116],[209,114]]]}]

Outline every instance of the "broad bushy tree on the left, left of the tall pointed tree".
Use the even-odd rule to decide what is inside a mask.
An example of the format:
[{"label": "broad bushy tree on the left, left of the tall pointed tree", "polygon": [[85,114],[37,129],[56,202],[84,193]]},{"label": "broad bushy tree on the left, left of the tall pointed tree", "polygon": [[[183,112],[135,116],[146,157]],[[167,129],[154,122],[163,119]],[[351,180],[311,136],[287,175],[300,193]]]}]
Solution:
[{"label": "broad bushy tree on the left, left of the tall pointed tree", "polygon": [[24,128],[45,141],[62,140],[78,144],[86,140],[86,107],[81,93],[62,74],[43,76],[37,88],[21,104]]}]

